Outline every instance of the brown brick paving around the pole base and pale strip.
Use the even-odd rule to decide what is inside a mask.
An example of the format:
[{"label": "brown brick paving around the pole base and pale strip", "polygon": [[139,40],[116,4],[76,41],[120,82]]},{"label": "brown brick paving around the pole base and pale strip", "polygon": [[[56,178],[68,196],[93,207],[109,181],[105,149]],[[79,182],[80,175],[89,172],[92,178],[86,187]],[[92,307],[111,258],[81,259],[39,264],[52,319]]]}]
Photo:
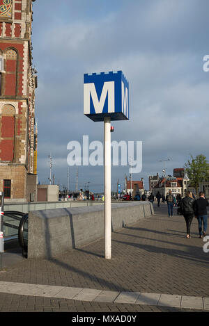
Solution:
[{"label": "brown brick paving around the pole base and pale strip", "polygon": [[[0,273],[0,281],[209,297],[209,253],[203,252],[196,219],[185,238],[183,216],[155,215],[112,234],[112,259],[104,240],[50,261],[26,259]],[[0,311],[191,311],[136,304],[107,304],[0,293]],[[193,310],[194,311],[194,310]]]}]

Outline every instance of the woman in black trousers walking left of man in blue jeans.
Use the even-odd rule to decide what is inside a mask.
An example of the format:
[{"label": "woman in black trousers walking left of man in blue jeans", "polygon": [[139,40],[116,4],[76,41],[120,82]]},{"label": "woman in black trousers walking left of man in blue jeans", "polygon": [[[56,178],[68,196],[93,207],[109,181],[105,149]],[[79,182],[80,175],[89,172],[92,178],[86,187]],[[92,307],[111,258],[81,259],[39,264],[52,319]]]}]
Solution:
[{"label": "woman in black trousers walking left of man in blue jeans", "polygon": [[187,225],[187,236],[186,238],[191,238],[190,236],[190,227],[192,220],[194,218],[194,203],[195,200],[192,196],[191,191],[187,191],[187,195],[182,199],[182,211]]}]

